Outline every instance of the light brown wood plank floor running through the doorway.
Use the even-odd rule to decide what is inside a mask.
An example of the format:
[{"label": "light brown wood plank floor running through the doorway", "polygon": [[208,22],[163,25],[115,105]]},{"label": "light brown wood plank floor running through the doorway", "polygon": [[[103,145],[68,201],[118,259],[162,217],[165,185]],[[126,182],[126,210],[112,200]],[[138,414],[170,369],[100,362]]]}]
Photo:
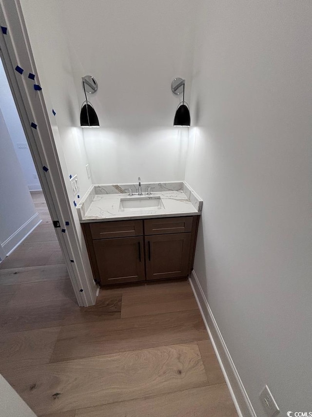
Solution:
[{"label": "light brown wood plank floor running through the doorway", "polygon": [[0,264],[0,373],[38,416],[236,417],[187,281],[101,289],[79,308],[44,221]]}]

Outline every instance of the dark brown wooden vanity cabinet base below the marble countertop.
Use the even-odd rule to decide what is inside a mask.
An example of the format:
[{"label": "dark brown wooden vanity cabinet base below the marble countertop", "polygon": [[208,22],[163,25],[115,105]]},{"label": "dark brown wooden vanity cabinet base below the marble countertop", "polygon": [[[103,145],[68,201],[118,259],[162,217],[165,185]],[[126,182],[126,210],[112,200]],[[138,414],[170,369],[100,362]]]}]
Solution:
[{"label": "dark brown wooden vanity cabinet base below the marble countertop", "polygon": [[101,285],[187,277],[199,216],[82,223],[94,278]]}]

